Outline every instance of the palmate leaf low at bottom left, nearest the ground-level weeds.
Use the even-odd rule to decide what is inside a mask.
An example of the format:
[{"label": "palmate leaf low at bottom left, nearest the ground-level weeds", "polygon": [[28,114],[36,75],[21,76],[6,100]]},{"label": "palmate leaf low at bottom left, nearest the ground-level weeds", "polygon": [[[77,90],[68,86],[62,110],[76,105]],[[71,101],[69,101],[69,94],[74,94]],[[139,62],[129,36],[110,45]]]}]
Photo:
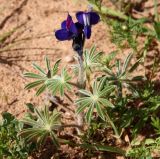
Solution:
[{"label": "palmate leaf low at bottom left, nearest the ground-level weeds", "polygon": [[53,144],[58,147],[59,143],[55,132],[61,126],[60,113],[50,112],[47,106],[44,110],[35,108],[34,113],[34,117],[25,117],[21,120],[26,128],[20,132],[20,136],[28,142],[36,141],[38,146],[43,145],[50,138]]}]

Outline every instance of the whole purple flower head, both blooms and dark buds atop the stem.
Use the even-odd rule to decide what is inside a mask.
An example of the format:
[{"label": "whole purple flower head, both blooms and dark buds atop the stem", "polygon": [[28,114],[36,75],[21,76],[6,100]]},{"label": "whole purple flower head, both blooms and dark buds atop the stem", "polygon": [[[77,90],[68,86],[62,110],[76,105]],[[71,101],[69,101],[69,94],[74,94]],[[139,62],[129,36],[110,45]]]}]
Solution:
[{"label": "whole purple flower head, both blooms and dark buds atop the stem", "polygon": [[55,32],[58,40],[73,40],[72,48],[79,56],[83,54],[85,38],[91,36],[91,26],[97,24],[100,17],[95,12],[78,12],[76,14],[78,22],[74,23],[68,14],[67,19],[61,23],[61,29]]}]

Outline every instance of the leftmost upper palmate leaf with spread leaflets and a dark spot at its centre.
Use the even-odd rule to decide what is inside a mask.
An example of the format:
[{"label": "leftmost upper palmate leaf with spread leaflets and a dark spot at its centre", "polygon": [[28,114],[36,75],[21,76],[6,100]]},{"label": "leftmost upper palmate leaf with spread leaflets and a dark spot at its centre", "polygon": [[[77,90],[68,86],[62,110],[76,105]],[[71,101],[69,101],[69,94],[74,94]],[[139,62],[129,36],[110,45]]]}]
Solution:
[{"label": "leftmost upper palmate leaf with spread leaflets and a dark spot at its centre", "polygon": [[[32,72],[24,73],[24,77],[35,79],[34,82],[27,84],[25,86],[25,89],[31,89],[31,88],[39,86],[39,88],[36,92],[37,96],[45,91],[45,89],[47,88],[47,84],[46,84],[47,81],[49,79],[52,79],[54,76],[56,76],[56,74],[58,72],[60,60],[55,62],[53,68],[51,68],[50,60],[48,59],[48,57],[45,57],[45,63],[46,63],[47,71],[45,71],[39,65],[34,63],[33,67],[39,72],[39,74],[32,73]],[[63,94],[63,92],[62,92],[62,94]]]}]

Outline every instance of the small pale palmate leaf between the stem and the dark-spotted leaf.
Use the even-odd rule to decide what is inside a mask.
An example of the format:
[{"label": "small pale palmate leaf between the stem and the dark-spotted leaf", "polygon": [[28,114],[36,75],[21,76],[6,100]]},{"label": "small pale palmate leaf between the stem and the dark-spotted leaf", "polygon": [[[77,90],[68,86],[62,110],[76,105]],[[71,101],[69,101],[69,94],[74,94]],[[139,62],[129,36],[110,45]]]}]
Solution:
[{"label": "small pale palmate leaf between the stem and the dark-spotted leaf", "polygon": [[60,93],[61,96],[64,96],[65,89],[71,90],[70,80],[71,77],[68,75],[67,70],[63,68],[61,76],[54,76],[52,79],[46,81],[46,85],[54,95]]}]

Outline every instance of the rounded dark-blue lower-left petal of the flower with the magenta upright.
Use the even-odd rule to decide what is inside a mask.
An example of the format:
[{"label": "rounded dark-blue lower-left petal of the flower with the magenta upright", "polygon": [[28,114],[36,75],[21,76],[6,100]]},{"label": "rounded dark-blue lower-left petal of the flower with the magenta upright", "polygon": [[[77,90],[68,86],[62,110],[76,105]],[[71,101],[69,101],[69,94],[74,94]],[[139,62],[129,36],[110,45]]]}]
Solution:
[{"label": "rounded dark-blue lower-left petal of the flower with the magenta upright", "polygon": [[55,32],[55,36],[60,41],[70,40],[72,38],[72,33],[67,29],[60,29]]}]

